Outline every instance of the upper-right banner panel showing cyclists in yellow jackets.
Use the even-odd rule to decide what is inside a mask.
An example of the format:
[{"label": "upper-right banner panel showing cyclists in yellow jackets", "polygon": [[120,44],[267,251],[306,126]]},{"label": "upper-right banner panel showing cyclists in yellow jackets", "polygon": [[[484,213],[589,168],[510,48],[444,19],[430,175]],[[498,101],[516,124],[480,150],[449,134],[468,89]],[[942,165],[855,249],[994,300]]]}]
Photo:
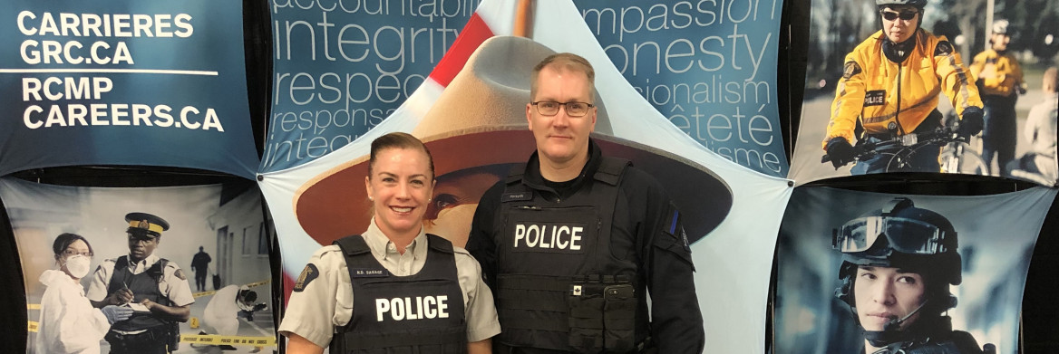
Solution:
[{"label": "upper-right banner panel showing cyclists in yellow jackets", "polygon": [[[963,173],[1054,185],[1056,96],[1042,85],[1054,61],[1026,51],[1051,39],[1024,36],[1048,21],[1048,12],[1025,12],[1037,6],[1027,3],[993,14],[923,1],[921,11],[909,12],[917,15],[902,33],[883,31],[893,21],[875,3],[812,1],[789,176],[804,184],[850,174]],[[915,46],[898,51],[894,38]]]}]

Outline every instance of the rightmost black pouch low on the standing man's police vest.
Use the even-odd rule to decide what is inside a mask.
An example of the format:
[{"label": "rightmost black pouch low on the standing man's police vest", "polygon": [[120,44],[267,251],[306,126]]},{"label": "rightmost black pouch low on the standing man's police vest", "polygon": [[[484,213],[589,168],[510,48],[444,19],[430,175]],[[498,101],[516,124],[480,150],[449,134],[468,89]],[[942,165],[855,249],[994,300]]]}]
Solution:
[{"label": "rightmost black pouch low on the standing man's police vest", "polygon": [[636,296],[632,284],[604,287],[604,346],[607,353],[629,353],[635,348]]}]

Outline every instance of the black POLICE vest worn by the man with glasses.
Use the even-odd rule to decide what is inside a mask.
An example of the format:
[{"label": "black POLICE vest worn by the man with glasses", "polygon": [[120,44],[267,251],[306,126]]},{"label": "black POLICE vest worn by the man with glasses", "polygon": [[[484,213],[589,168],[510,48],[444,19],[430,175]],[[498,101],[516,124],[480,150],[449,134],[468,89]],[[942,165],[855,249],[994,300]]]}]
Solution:
[{"label": "black POLICE vest worn by the man with glasses", "polygon": [[[629,162],[604,157],[573,195],[549,200],[505,180],[497,237],[497,312],[507,347],[582,353],[633,350],[636,263],[611,249],[618,184]],[[624,220],[618,220],[623,222]]]}]

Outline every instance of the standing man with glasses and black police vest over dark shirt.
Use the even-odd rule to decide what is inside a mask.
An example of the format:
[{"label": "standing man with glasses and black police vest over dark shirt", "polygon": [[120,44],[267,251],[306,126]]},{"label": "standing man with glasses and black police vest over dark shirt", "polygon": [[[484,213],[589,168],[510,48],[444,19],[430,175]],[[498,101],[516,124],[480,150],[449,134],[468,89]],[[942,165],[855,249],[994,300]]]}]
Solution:
[{"label": "standing man with glasses and black police vest over dark shirt", "polygon": [[[605,157],[594,72],[561,53],[534,68],[537,151],[482,197],[467,249],[497,294],[499,353],[701,353],[681,216],[661,185]],[[650,317],[647,293],[652,299]]]}]

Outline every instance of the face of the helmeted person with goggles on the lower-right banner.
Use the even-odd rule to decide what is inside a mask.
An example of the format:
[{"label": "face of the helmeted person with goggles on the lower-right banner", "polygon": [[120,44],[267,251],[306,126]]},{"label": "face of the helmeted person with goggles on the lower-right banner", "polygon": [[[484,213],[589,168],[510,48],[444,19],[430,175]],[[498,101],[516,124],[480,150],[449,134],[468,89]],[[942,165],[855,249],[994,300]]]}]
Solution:
[{"label": "face of the helmeted person with goggles on the lower-right banner", "polygon": [[[926,284],[918,273],[889,266],[861,265],[854,280],[857,318],[865,331],[882,331],[886,322],[908,316],[923,302]],[[912,325],[912,315],[900,330]]]}]

